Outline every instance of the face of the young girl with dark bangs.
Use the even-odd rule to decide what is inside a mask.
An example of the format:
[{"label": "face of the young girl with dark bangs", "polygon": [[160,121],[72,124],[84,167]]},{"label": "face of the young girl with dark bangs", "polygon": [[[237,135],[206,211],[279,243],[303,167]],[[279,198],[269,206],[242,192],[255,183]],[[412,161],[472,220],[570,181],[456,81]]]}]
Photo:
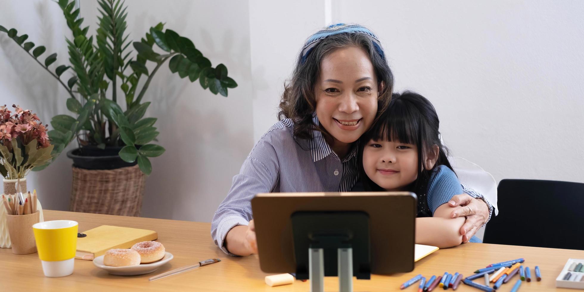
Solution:
[{"label": "face of the young girl with dark bangs", "polygon": [[363,148],[365,173],[385,190],[404,190],[418,178],[418,167],[416,145],[371,140]]}]

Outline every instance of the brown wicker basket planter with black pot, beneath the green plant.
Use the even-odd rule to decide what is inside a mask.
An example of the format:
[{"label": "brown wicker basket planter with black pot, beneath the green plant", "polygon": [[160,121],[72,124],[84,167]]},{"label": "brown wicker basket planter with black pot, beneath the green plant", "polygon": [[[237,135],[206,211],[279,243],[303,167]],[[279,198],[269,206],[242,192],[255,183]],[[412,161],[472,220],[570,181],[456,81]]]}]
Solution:
[{"label": "brown wicker basket planter with black pot, beneath the green plant", "polygon": [[[77,152],[76,152],[77,151]],[[102,150],[103,151],[103,150]],[[67,153],[73,158],[73,187],[69,210],[122,216],[139,216],[144,197],[146,175],[138,165],[127,166],[118,156],[79,155],[79,150]],[[105,154],[107,154],[106,151]],[[116,161],[116,158],[119,161]],[[99,162],[102,162],[103,169]]]}]

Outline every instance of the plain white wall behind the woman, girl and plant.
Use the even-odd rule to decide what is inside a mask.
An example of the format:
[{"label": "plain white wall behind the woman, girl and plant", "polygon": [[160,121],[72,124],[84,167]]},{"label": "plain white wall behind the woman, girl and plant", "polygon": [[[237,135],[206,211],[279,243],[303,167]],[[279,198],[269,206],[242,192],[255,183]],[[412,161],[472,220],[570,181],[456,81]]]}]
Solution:
[{"label": "plain white wall behind the woman, girl and plant", "polygon": [[[0,25],[67,55],[57,4],[2,2]],[[327,19],[362,23],[380,36],[398,91],[429,98],[455,155],[504,178],[584,182],[584,13],[581,1],[279,2],[127,0],[131,38],[159,21],[185,34],[238,82],[214,96],[161,68],[145,100],[166,153],[152,159],[142,215],[210,221],[253,142],[277,121],[283,83],[304,40]],[[82,1],[85,23],[96,5]],[[0,103],[48,123],[67,95],[8,37],[0,37]],[[45,53],[46,55],[48,55]],[[44,60],[44,59],[43,59]],[[56,67],[56,64],[52,65]],[[29,176],[44,206],[66,210],[71,161],[61,155]]]}]

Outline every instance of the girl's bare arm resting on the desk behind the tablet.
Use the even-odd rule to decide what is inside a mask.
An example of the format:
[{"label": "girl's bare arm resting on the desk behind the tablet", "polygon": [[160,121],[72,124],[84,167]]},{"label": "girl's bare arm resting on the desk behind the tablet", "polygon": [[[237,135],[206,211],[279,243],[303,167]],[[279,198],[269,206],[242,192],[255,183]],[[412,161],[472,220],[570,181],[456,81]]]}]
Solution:
[{"label": "girl's bare arm resting on the desk behind the tablet", "polygon": [[453,207],[443,204],[434,211],[434,217],[416,218],[416,244],[450,248],[460,245],[463,236],[460,228],[464,217],[450,218]]}]

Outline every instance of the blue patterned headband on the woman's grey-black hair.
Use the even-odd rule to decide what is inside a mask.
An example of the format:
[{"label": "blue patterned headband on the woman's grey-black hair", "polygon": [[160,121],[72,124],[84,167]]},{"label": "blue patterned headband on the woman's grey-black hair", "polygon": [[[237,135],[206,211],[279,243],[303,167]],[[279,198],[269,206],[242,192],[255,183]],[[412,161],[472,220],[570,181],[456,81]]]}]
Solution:
[{"label": "blue patterned headband on the woman's grey-black hair", "polygon": [[377,53],[381,56],[381,58],[385,58],[385,54],[383,50],[381,50],[381,43],[377,39],[377,36],[372,33],[366,27],[360,25],[347,25],[345,23],[337,23],[336,25],[329,25],[325,27],[325,29],[319,30],[317,33],[312,34],[304,44],[302,49],[302,58],[300,59],[300,64],[304,64],[306,59],[308,58],[308,54],[312,51],[314,47],[317,46],[321,40],[326,39],[326,37],[334,36],[335,34],[339,33],[361,33],[367,34],[367,36],[371,37],[371,41],[373,41],[373,46]]}]

